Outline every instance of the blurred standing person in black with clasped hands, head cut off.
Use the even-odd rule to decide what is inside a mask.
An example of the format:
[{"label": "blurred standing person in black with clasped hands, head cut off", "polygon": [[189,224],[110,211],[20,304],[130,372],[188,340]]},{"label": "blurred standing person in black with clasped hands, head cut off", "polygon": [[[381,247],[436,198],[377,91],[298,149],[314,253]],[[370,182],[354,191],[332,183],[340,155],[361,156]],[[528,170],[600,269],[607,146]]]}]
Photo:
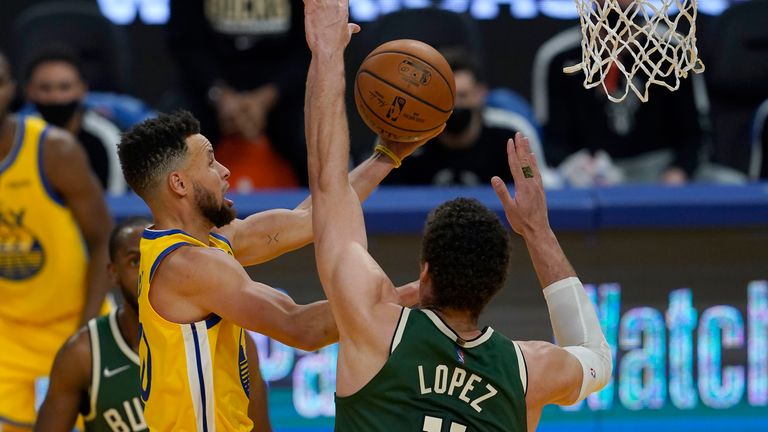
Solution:
[{"label": "blurred standing person in black with clasped hands, head cut off", "polygon": [[214,143],[265,134],[306,184],[302,1],[171,0],[169,34],[186,108],[203,133]]}]

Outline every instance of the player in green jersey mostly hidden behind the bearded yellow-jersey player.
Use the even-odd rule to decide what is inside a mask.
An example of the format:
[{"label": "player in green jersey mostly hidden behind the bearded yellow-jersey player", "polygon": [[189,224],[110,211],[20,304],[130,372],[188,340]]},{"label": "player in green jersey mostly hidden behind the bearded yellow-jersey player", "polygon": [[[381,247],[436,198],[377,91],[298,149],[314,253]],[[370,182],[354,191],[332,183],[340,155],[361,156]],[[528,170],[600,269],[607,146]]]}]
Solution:
[{"label": "player in green jersey mostly hidden behind the bearded yellow-jersey player", "polygon": [[[139,239],[151,223],[128,218],[112,231],[109,274],[124,301],[108,316],[91,320],[61,348],[51,371],[51,387],[40,409],[36,431],[69,432],[78,414],[86,432],[148,430],[139,401]],[[246,339],[250,372],[248,415],[254,430],[271,431],[267,395],[253,341]]]}]

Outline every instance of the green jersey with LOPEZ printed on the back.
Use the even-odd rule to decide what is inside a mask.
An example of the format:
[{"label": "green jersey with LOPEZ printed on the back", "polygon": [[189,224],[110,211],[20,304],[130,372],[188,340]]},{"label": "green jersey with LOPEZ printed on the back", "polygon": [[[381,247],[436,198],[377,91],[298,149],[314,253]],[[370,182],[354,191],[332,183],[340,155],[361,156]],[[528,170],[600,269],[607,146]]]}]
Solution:
[{"label": "green jersey with LOPEZ printed on the back", "polygon": [[464,341],[434,312],[403,308],[384,367],[336,397],[336,431],[524,432],[526,385],[513,341],[490,327]]}]

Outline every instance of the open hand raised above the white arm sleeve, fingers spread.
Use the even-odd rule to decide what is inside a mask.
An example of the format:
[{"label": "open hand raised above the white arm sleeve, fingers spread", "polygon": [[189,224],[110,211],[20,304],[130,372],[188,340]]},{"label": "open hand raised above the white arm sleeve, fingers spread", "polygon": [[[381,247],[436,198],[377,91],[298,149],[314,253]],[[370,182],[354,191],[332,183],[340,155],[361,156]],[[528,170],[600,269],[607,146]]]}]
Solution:
[{"label": "open hand raised above the white arm sleeve, fingers spread", "polygon": [[519,132],[514,139],[507,141],[507,161],[515,180],[515,195],[509,194],[507,186],[499,177],[493,177],[491,184],[512,229],[523,237],[541,229],[549,229],[541,173],[536,165],[536,157],[531,153],[528,138]]}]

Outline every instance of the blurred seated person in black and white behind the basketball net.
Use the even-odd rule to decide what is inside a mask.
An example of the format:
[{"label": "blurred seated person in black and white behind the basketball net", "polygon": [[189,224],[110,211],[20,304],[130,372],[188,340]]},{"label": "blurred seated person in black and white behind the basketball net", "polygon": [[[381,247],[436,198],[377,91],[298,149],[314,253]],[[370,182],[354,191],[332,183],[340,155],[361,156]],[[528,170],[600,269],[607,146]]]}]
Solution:
[{"label": "blurred seated person in black and white behind the basketball net", "polygon": [[[707,115],[697,103],[703,81],[694,83],[702,78],[692,74],[675,92],[654,86],[646,103],[632,93],[613,103],[601,86],[584,89],[582,74],[563,73],[581,61],[580,41],[580,29],[568,29],[547,41],[534,62],[533,105],[549,161],[577,186],[688,182],[699,167],[700,119]],[[608,90],[623,90],[623,80],[609,73]]]}]

